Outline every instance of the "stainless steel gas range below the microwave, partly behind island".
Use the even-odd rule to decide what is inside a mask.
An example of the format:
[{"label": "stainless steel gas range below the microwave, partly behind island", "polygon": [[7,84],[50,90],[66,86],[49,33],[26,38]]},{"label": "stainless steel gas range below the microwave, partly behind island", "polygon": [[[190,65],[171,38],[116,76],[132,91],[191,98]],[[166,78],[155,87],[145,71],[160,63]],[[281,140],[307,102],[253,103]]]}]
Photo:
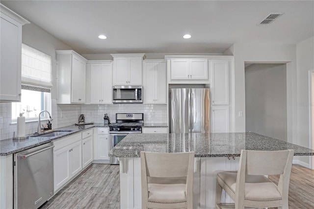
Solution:
[{"label": "stainless steel gas range below the microwave, partly behind island", "polygon": [[[129,133],[142,133],[144,113],[116,113],[116,123],[109,124],[109,149],[116,146]],[[117,157],[110,157],[110,164],[119,164]]]}]

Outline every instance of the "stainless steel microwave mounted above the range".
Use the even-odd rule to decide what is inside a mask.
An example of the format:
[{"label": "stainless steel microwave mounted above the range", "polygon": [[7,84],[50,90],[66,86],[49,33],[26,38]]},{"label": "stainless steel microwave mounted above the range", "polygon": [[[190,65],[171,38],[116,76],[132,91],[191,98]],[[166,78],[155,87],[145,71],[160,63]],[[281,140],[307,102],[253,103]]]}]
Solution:
[{"label": "stainless steel microwave mounted above the range", "polygon": [[142,86],[112,86],[112,103],[143,103]]}]

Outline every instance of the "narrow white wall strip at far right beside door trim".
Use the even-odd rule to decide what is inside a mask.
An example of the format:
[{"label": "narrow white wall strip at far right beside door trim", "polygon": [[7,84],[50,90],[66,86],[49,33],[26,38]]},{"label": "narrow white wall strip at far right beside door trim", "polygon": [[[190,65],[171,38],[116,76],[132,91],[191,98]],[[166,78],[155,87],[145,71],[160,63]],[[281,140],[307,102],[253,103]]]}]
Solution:
[{"label": "narrow white wall strip at far right beside door trim", "polygon": [[[314,37],[297,44],[296,63],[298,144],[310,147],[309,71],[314,71]],[[299,157],[299,160],[309,163],[309,157]]]}]

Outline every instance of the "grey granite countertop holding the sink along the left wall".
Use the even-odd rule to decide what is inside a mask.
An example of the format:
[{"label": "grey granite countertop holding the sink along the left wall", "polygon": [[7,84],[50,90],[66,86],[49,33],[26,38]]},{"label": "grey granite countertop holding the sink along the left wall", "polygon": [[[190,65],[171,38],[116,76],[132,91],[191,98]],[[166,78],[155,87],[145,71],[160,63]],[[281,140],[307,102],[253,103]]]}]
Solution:
[{"label": "grey granite countertop holding the sink along the left wall", "polygon": [[107,124],[91,124],[91,125],[80,125],[80,126],[66,126],[58,129],[53,129],[52,131],[60,131],[60,130],[66,130],[69,131],[66,134],[60,135],[60,136],[52,136],[52,137],[42,137],[42,136],[36,136],[36,137],[29,137],[25,140],[13,140],[5,139],[0,141],[0,156],[7,156],[10,154],[18,153],[42,144],[46,144],[51,141],[59,140],[65,136],[69,136],[81,131],[86,131],[88,129],[94,128],[94,127],[108,127]]}]

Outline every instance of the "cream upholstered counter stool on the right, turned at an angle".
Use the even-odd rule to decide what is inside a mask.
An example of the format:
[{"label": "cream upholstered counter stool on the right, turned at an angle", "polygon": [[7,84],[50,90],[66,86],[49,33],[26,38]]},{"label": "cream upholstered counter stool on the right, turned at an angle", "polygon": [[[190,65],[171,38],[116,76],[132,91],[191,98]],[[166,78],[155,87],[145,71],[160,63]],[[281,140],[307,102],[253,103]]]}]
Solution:
[{"label": "cream upholstered counter stool on the right, turned at an angle", "polygon": [[[216,209],[222,189],[235,201],[236,209],[278,207],[288,209],[288,189],[293,150],[241,151],[238,171],[217,174]],[[265,175],[280,175],[276,185]]]}]

